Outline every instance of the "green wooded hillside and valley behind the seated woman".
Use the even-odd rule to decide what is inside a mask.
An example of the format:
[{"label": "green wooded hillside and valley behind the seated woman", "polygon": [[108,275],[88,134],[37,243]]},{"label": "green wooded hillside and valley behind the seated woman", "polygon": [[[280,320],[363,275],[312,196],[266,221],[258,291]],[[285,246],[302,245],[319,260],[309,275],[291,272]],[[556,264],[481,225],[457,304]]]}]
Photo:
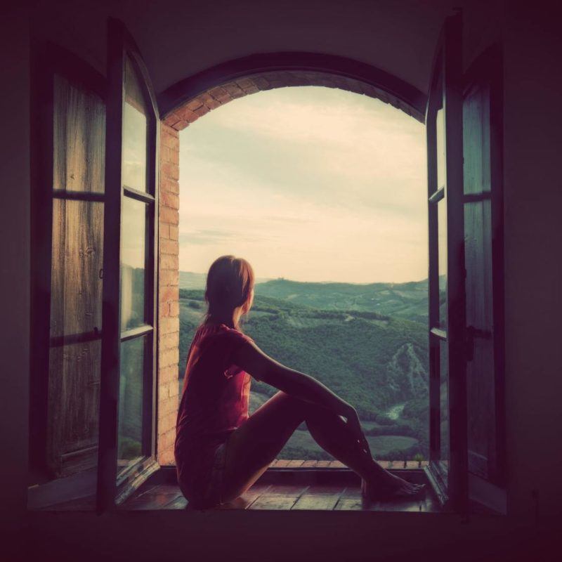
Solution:
[{"label": "green wooded hillside and valley behind the seated woman", "polygon": [[[287,282],[282,281],[256,285],[254,306],[242,325],[244,332],[275,360],[310,374],[353,404],[365,421],[363,427],[370,436],[374,455],[393,459],[411,457],[417,452],[426,455],[428,408],[423,405],[428,404],[428,356],[424,325],[361,310],[367,306],[358,306],[360,299],[355,300],[355,309],[314,308],[296,298],[289,299],[293,293],[277,299],[258,290],[270,283],[277,285],[277,289],[287,288]],[[306,289],[299,300],[324,306],[336,303],[332,287],[327,295],[316,297],[313,290],[308,290],[311,287]],[[345,289],[339,287],[337,293],[345,294]],[[318,287],[316,290],[322,292]],[[203,291],[181,289],[180,304],[183,376],[192,336],[206,309]],[[251,388],[251,411],[277,392],[276,388],[255,380]],[[296,431],[283,455],[282,458],[329,458],[318,450],[308,431]]]}]

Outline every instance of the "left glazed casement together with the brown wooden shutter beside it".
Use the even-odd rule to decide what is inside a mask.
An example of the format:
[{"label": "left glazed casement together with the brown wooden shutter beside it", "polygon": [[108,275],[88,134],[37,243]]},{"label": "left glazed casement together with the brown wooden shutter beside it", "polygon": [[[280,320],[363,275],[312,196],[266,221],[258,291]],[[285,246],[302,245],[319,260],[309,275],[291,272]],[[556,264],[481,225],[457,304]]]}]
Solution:
[{"label": "left glazed casement together with the brown wooden shutter beside it", "polygon": [[108,37],[107,79],[34,46],[30,507],[108,509],[158,466],[159,114],[123,25]]}]

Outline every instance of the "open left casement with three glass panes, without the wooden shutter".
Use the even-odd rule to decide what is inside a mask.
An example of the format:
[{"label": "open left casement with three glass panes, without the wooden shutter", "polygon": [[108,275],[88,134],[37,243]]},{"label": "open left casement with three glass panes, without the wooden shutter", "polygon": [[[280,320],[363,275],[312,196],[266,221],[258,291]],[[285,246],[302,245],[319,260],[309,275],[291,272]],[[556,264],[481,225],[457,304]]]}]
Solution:
[{"label": "open left casement with three glass panes, without the wooden shutter", "polygon": [[157,469],[159,114],[133,39],[109,21],[98,509]]}]

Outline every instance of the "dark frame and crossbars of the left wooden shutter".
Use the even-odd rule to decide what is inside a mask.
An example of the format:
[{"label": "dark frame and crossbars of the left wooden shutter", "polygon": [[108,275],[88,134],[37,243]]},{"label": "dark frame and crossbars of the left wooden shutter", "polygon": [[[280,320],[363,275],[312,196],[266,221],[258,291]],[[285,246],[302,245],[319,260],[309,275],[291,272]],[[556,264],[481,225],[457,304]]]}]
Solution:
[{"label": "dark frame and crossbars of the left wooden shutter", "polygon": [[[30,348],[30,468],[48,474],[48,384],[52,346],[71,342],[51,338],[51,263],[53,257],[53,202],[55,199],[105,202],[103,192],[55,189],[54,85],[55,75],[84,86],[106,103],[105,78],[77,55],[51,41],[35,40],[31,49],[33,122],[38,134],[31,146],[31,317]],[[101,334],[77,334],[76,343],[100,339]]]}]

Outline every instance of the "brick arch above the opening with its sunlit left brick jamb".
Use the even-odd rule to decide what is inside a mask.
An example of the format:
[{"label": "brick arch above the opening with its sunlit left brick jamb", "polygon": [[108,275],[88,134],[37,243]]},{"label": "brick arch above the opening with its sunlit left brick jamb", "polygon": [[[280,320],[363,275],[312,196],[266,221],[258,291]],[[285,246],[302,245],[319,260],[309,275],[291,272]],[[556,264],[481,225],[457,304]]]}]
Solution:
[{"label": "brick arch above the opening with its sunlit left brick jamb", "polygon": [[[269,69],[269,70],[268,70]],[[272,70],[273,69],[273,70]],[[306,70],[308,69],[308,70]],[[179,131],[209,111],[252,93],[325,86],[390,103],[424,122],[426,96],[396,77],[356,61],[306,53],[255,55],[178,82],[159,96],[158,431],[160,464],[174,464],[179,357]]]}]

